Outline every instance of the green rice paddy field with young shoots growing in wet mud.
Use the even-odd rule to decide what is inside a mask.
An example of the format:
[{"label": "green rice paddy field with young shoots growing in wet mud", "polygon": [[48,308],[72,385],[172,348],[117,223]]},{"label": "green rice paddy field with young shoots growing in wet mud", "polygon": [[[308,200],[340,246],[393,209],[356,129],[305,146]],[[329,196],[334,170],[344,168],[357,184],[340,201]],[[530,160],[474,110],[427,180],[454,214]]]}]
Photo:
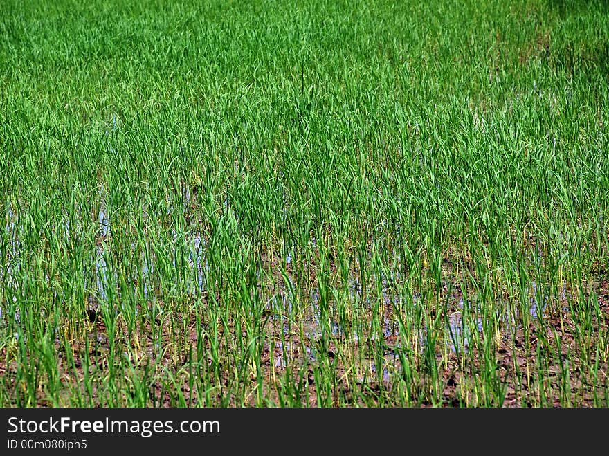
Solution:
[{"label": "green rice paddy field with young shoots growing in wet mud", "polygon": [[606,1],[0,37],[0,406],[609,406]]}]

